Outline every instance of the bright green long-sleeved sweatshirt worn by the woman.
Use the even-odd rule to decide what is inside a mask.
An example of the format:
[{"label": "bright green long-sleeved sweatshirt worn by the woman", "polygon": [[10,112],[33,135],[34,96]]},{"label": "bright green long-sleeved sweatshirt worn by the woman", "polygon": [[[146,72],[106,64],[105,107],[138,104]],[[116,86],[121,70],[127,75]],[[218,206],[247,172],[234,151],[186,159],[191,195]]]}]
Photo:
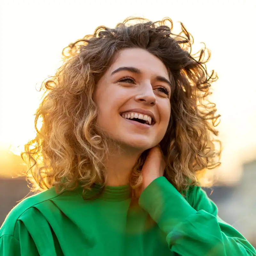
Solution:
[{"label": "bright green long-sleeved sweatshirt worn by the woman", "polygon": [[160,177],[139,200],[130,192],[129,186],[109,186],[86,201],[81,188],[60,194],[50,188],[28,197],[0,229],[0,255],[256,255],[200,187],[190,187],[184,198]]}]

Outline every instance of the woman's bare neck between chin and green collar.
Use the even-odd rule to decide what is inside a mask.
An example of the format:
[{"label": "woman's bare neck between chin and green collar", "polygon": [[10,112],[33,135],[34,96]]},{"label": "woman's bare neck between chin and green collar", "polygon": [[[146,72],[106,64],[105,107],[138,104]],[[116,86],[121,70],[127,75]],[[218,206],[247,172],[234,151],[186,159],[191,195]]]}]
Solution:
[{"label": "woman's bare neck between chin and green collar", "polygon": [[124,186],[129,184],[129,176],[136,161],[141,155],[141,151],[118,149],[108,155],[104,162],[106,167],[107,186]]}]

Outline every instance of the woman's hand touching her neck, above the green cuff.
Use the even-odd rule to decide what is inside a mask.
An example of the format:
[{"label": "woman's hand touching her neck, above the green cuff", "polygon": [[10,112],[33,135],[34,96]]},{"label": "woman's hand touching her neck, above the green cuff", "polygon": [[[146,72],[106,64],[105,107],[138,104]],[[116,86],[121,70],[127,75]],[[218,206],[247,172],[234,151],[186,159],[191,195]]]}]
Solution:
[{"label": "woman's hand touching her neck, above the green cuff", "polygon": [[159,145],[151,148],[148,152],[148,156],[143,164],[142,174],[142,185],[141,191],[148,187],[148,185],[158,177],[164,175],[165,162],[163,153]]}]

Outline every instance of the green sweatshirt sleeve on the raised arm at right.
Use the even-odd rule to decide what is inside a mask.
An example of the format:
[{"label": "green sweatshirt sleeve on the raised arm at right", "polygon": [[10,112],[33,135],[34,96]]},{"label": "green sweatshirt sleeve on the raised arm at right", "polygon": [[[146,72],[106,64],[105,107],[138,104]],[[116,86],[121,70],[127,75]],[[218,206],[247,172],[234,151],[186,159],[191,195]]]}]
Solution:
[{"label": "green sweatshirt sleeve on the raised arm at right", "polygon": [[244,236],[218,217],[217,206],[200,187],[193,188],[188,201],[165,177],[151,182],[140,195],[140,206],[166,234],[172,252],[181,256],[256,256]]}]

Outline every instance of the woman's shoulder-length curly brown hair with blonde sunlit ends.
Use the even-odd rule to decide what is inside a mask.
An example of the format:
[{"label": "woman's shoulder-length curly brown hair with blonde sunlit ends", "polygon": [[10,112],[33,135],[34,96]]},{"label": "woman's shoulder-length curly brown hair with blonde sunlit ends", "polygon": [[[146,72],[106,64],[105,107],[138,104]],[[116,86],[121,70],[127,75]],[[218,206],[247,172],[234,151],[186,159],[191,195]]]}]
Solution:
[{"label": "woman's shoulder-length curly brown hair with blonde sunlit ends", "polygon": [[[191,53],[193,37],[181,25],[172,33],[172,20],[152,22],[127,18],[115,28],[100,26],[93,35],[63,49],[63,64],[55,76],[44,80],[45,92],[35,114],[36,137],[28,141],[21,153],[28,164],[27,178],[33,190],[52,186],[63,191],[79,184],[92,188],[96,181],[105,186],[103,160],[108,155],[108,141],[96,126],[97,106],[92,100],[95,84],[121,49],[142,48],[158,57],[172,74],[171,117],[160,142],[166,168],[164,176],[182,194],[197,185],[207,169],[220,164],[220,149],[214,139],[220,115],[208,97],[211,83],[205,63],[210,51],[205,47]],[[40,129],[38,125],[42,122]],[[141,167],[147,156],[143,152],[133,167],[130,185],[142,182]]]}]

